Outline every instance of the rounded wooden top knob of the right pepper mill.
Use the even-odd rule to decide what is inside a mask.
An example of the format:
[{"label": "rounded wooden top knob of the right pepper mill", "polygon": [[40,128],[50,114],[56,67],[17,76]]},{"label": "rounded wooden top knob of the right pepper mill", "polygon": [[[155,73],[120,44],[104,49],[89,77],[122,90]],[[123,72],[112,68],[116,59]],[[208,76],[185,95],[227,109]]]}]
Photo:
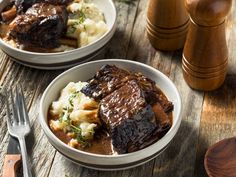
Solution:
[{"label": "rounded wooden top knob of the right pepper mill", "polygon": [[224,22],[232,0],[186,0],[185,6],[198,25],[217,26]]}]

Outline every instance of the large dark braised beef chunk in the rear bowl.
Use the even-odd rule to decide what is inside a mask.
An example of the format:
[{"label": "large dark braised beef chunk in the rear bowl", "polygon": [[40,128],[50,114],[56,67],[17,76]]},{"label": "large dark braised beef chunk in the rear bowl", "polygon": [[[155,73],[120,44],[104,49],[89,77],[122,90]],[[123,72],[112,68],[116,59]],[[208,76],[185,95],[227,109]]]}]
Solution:
[{"label": "large dark braised beef chunk in the rear bowl", "polygon": [[64,6],[36,3],[10,23],[10,37],[25,45],[58,47],[59,38],[66,30],[67,18]]}]

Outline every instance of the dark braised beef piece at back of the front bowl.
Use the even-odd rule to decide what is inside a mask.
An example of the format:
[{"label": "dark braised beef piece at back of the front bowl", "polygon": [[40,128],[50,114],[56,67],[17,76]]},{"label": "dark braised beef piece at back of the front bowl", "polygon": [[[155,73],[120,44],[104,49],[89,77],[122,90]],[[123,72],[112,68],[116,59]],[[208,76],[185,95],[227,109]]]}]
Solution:
[{"label": "dark braised beef piece at back of the front bowl", "polygon": [[89,84],[83,87],[81,92],[99,101],[130,80],[136,80],[139,83],[147,103],[153,105],[159,101],[167,112],[173,110],[172,103],[163,97],[162,91],[156,87],[156,83],[153,80],[147,78],[142,73],[129,72],[114,65],[104,65],[88,81]]}]

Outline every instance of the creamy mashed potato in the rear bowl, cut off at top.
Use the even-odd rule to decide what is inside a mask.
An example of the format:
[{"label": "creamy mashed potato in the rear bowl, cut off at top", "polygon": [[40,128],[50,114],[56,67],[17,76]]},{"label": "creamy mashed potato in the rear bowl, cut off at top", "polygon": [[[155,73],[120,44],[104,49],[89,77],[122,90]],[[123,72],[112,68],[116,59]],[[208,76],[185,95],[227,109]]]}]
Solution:
[{"label": "creamy mashed potato in the rear bowl, cut off at top", "polygon": [[66,35],[76,38],[78,47],[96,41],[108,31],[104,15],[95,4],[77,0],[67,6],[67,10],[70,15]]}]

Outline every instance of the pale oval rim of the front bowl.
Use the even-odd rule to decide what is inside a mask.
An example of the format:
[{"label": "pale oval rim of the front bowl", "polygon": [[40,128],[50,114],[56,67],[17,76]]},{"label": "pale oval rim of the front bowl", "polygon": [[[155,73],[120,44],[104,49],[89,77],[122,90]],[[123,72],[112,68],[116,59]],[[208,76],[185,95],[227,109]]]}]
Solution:
[{"label": "pale oval rim of the front bowl", "polygon": [[[171,86],[171,88],[174,89],[174,92],[175,92],[176,97],[177,97],[177,103],[179,104],[179,106],[178,106],[179,109],[176,110],[176,112],[177,112],[176,123],[174,125],[172,125],[171,129],[160,140],[158,140],[155,143],[147,146],[144,149],[141,149],[141,150],[138,150],[138,151],[135,151],[135,152],[126,153],[126,154],[103,155],[103,154],[95,154],[95,153],[85,152],[85,151],[78,150],[78,149],[75,149],[73,147],[70,147],[67,144],[65,144],[64,142],[62,142],[59,138],[57,138],[56,135],[51,131],[51,129],[49,128],[47,122],[44,119],[44,113],[43,113],[43,107],[44,107],[43,103],[44,103],[45,97],[47,96],[47,93],[49,92],[51,87],[56,82],[58,82],[61,79],[61,77],[63,77],[66,74],[69,74],[70,72],[73,72],[74,70],[78,70],[80,67],[83,67],[85,65],[92,65],[94,63],[102,63],[102,62],[121,62],[121,63],[140,65],[141,67],[145,67],[148,70],[152,70],[153,72],[157,73],[160,77],[162,77],[164,80],[167,81],[167,83]],[[60,75],[58,75],[56,78],[54,78],[52,80],[52,82],[45,89],[45,91],[44,91],[44,93],[41,97],[41,100],[40,100],[39,122],[40,122],[41,128],[43,129],[46,137],[48,139],[50,139],[50,141],[49,141],[50,143],[51,143],[51,141],[56,141],[56,143],[59,143],[58,145],[60,145],[60,147],[64,147],[65,149],[70,150],[71,152],[77,153],[77,154],[83,154],[83,155],[86,155],[86,156],[97,157],[97,158],[119,159],[119,158],[124,158],[124,157],[130,157],[130,156],[134,157],[134,156],[140,155],[142,153],[145,153],[148,149],[151,149],[151,147],[153,147],[157,144],[164,144],[166,146],[168,143],[170,143],[170,141],[176,135],[176,133],[177,133],[179,127],[180,127],[180,123],[182,121],[181,112],[182,112],[182,101],[181,101],[179,91],[177,90],[174,83],[165,74],[163,74],[161,71],[153,68],[152,66],[149,66],[147,64],[137,62],[137,61],[127,60],[127,59],[101,59],[101,60],[91,61],[91,62],[87,62],[87,63],[77,65],[77,66],[75,66],[75,67],[73,67],[69,70],[64,71],[63,73],[61,73]],[[46,119],[47,119],[47,117],[46,117]],[[172,135],[171,132],[174,132],[174,134]],[[169,139],[169,140],[166,143],[164,143],[165,139],[167,139],[167,140]]]}]

